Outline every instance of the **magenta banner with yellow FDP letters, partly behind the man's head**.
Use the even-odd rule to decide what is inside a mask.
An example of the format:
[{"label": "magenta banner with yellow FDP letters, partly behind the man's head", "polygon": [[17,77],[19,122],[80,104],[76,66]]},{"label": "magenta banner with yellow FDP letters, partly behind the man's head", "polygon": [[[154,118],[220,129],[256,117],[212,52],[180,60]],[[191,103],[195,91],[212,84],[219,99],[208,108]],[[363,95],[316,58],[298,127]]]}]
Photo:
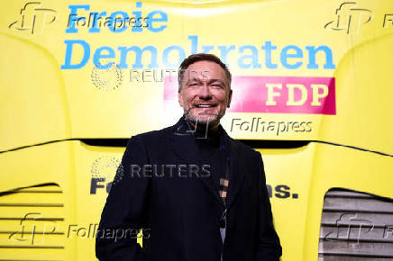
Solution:
[{"label": "magenta banner with yellow FDP letters, partly behind the man's head", "polygon": [[[334,77],[234,76],[228,112],[335,115]],[[164,104],[178,102],[178,82],[166,77]]]}]

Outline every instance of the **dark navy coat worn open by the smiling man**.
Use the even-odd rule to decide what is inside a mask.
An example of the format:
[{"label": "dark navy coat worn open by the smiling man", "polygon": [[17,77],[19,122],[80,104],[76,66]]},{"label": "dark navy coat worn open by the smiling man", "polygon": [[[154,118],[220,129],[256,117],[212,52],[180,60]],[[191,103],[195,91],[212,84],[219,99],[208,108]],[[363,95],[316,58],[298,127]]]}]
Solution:
[{"label": "dark navy coat worn open by the smiling man", "polygon": [[[181,121],[128,141],[102,212],[96,257],[102,261],[279,260],[281,247],[260,153],[224,132],[231,153],[225,206],[213,179],[201,169],[204,162],[187,146],[195,139],[192,133],[178,130]],[[191,165],[199,171],[190,172]],[[226,231],[224,244],[220,227]],[[136,241],[137,229],[145,232],[143,248]]]}]

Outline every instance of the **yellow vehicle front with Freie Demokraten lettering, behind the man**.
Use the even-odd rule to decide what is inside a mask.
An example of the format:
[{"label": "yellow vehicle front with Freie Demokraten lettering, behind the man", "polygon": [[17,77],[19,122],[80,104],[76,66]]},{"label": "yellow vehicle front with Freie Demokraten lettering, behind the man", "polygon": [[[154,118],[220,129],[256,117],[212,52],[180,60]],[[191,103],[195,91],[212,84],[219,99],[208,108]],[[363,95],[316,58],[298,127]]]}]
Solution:
[{"label": "yellow vehicle front with Freie Demokraten lettering, behind the man", "polygon": [[[393,260],[393,2],[22,0],[0,11],[0,260],[96,260],[127,140],[214,53],[260,151],[281,260]],[[142,243],[142,241],[140,240]]]}]

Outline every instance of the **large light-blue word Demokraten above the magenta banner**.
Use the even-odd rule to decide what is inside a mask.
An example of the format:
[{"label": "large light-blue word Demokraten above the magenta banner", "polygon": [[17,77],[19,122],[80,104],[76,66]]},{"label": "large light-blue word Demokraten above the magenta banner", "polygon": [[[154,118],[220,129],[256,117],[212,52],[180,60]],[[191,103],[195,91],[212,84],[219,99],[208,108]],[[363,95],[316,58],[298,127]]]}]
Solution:
[{"label": "large light-blue word Demokraten above the magenta banner", "polygon": [[[73,11],[76,9],[74,8]],[[119,11],[120,12],[120,11]],[[118,13],[125,15],[125,13]],[[115,14],[111,17],[107,17],[109,20],[115,20]],[[120,17],[117,17],[119,20],[123,20]],[[70,23],[71,24],[71,23]],[[78,24],[77,24],[78,26]],[[72,27],[73,28],[73,27]],[[71,29],[72,29],[71,28]],[[73,28],[75,29],[75,28]],[[95,27],[96,30],[99,30],[98,27]],[[117,31],[117,27],[114,28]],[[122,28],[123,30],[123,28]],[[191,54],[195,54],[199,51],[209,53],[210,51],[217,48],[220,53],[220,58],[223,60],[225,64],[229,66],[229,61],[233,60],[237,62],[237,64],[233,64],[233,66],[237,66],[238,68],[248,69],[248,68],[260,68],[262,67],[263,61],[260,60],[260,51],[257,46],[254,45],[242,45],[236,47],[234,44],[232,45],[198,45],[198,36],[197,35],[188,35],[187,39],[189,40],[189,50]],[[90,45],[85,40],[64,40],[66,44],[65,58],[64,64],[60,67],[62,69],[78,69],[84,67],[87,64],[90,55],[92,55],[93,63],[98,68],[108,68],[111,67],[113,63],[104,61],[103,58],[114,59],[118,58],[118,68],[157,68],[159,67],[158,58],[160,56],[160,66],[162,67],[178,67],[178,64],[186,58],[186,50],[185,47],[180,45],[170,45],[162,50],[162,53],[158,53],[158,49],[153,46],[145,46],[140,47],[137,45],[133,46],[119,46],[117,50],[120,52],[116,54],[116,49],[110,46],[102,46],[97,47],[95,50],[90,49]],[[277,69],[278,64],[272,63],[272,55],[278,55],[276,53],[272,54],[273,50],[278,49],[277,46],[273,45],[270,40],[266,40],[265,43],[261,46],[262,50],[265,50],[264,58],[265,65],[269,69]],[[308,52],[308,64],[306,65],[306,54],[305,51]],[[74,54],[77,52],[77,54]],[[129,52],[133,52],[132,57],[129,58]],[[259,53],[260,52],[260,53]],[[278,52],[278,51],[277,51]],[[318,57],[318,63],[315,61],[316,55],[318,53],[324,53],[324,56],[319,54],[321,57]],[[148,54],[146,54],[148,53]],[[120,55],[117,57],[117,55]],[[149,63],[150,58],[150,63]],[[322,58],[325,58],[323,60]],[[131,62],[127,63],[128,60],[133,61],[133,66],[131,66]],[[229,60],[229,61],[228,61]],[[334,58],[333,51],[327,46],[306,46],[305,48],[300,48],[297,45],[288,45],[283,49],[279,49],[279,63],[282,67],[288,69],[297,69],[299,67],[305,67],[308,69],[318,69],[319,65],[324,61],[324,69],[334,69]],[[103,63],[102,63],[103,62]],[[149,64],[148,64],[149,63]]]}]

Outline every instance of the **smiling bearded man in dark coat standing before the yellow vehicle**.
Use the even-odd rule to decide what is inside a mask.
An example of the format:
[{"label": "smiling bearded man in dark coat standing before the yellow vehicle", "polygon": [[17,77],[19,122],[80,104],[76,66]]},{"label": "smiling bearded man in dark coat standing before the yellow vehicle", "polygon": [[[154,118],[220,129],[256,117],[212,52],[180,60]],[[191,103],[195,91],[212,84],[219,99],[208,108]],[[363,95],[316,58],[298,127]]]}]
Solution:
[{"label": "smiling bearded man in dark coat standing before the yellow vehicle", "polygon": [[[184,109],[178,123],[127,144],[101,216],[99,230],[107,233],[96,238],[96,257],[279,260],[260,153],[219,124],[232,99],[231,73],[214,55],[195,54],[180,65],[178,84]],[[143,248],[127,232],[141,228],[149,229]]]}]

